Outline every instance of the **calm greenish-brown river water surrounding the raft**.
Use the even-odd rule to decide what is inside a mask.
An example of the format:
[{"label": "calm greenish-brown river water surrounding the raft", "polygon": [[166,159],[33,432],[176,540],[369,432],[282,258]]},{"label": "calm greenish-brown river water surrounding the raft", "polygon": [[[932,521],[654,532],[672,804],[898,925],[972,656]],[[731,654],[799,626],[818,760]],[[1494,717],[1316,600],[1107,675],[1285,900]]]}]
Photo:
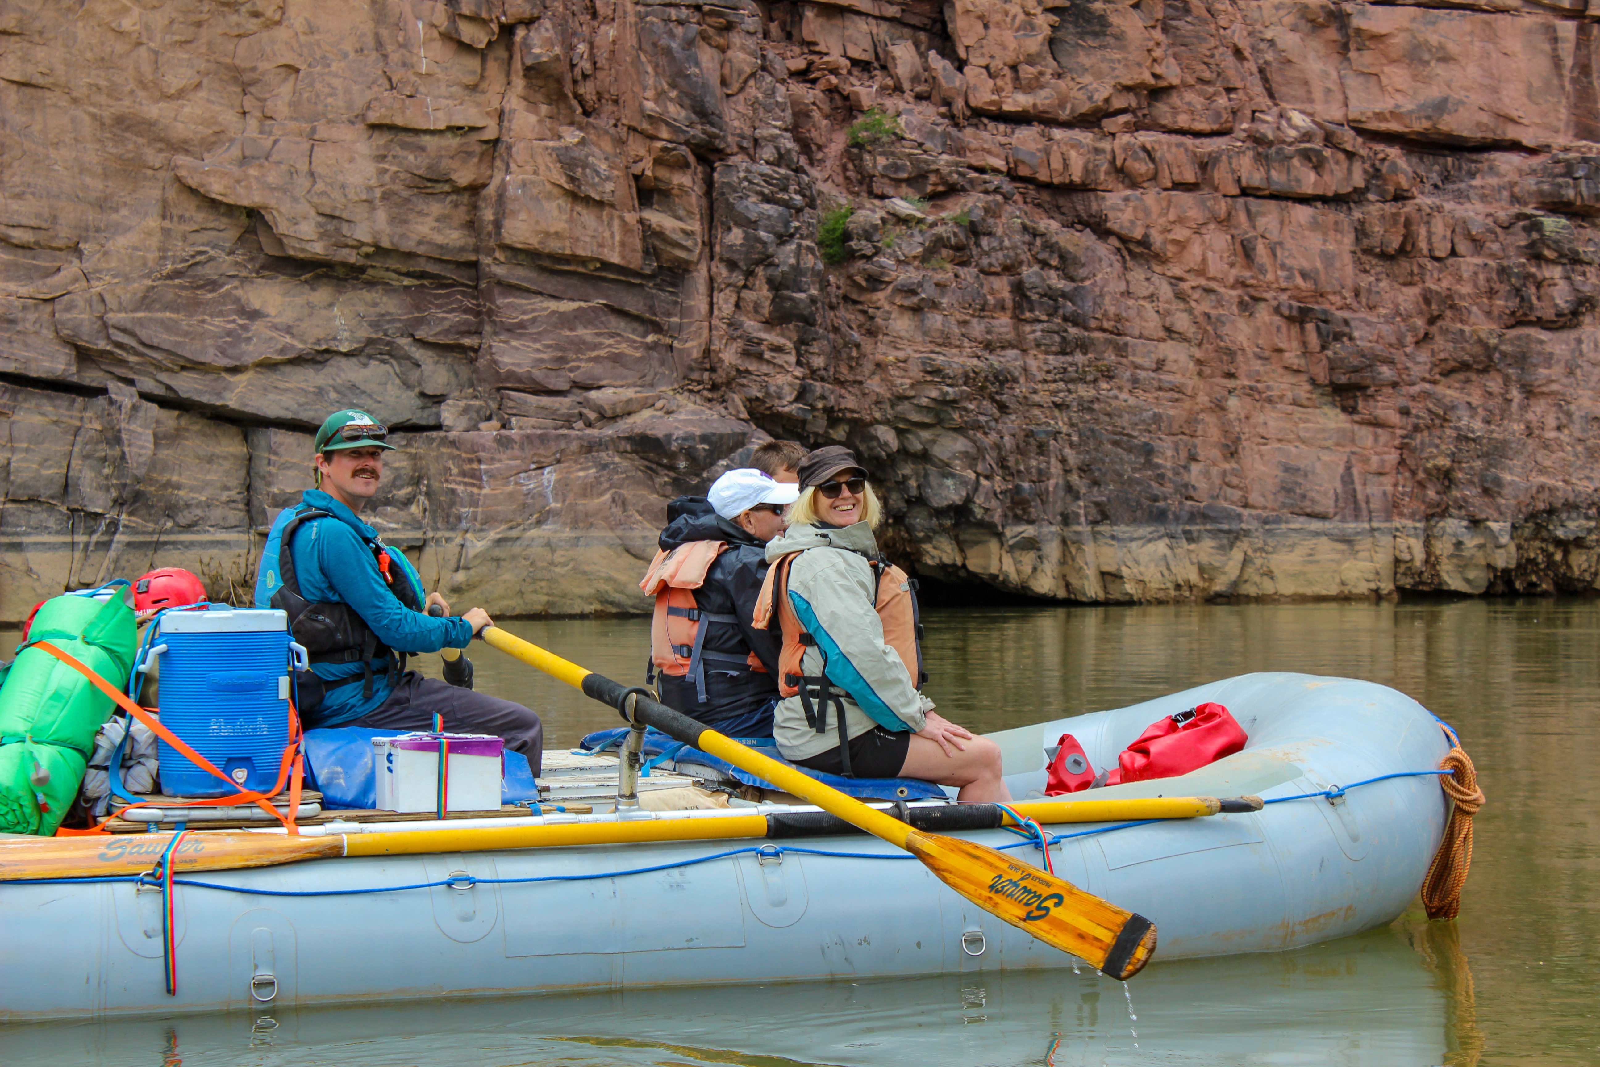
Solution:
[{"label": "calm greenish-brown river water surrounding the raft", "polygon": [[[1600,603],[973,608],[926,622],[928,693],[979,731],[1251,670],[1368,678],[1414,696],[1459,729],[1490,798],[1461,918],[1429,923],[1416,905],[1389,928],[1298,952],[1157,961],[1128,985],[1131,1000],[1109,979],[1058,971],[274,1009],[0,1029],[0,1062],[1600,1062]],[[650,645],[645,619],[507,629],[622,681],[640,680]],[[0,654],[13,643],[0,633]],[[538,707],[552,745],[618,721],[493,649],[470,654],[478,688]]]}]

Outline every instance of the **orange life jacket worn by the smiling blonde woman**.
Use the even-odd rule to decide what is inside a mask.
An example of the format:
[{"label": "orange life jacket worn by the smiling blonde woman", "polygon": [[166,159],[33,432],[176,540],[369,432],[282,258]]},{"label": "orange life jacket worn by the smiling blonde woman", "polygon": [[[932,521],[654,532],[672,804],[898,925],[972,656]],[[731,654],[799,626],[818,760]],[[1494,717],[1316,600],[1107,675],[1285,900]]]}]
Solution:
[{"label": "orange life jacket worn by the smiling blonde woman", "polygon": [[[802,549],[805,552],[805,549]],[[838,723],[838,752],[845,776],[850,776],[850,741],[845,736],[845,709],[840,697],[832,691],[826,672],[822,675],[806,675],[803,667],[805,649],[816,645],[816,638],[800,625],[800,616],[789,603],[789,569],[800,552],[790,552],[766,568],[766,579],[762,582],[762,593],[755,600],[757,629],[771,629],[773,609],[776,606],[778,625],[782,630],[782,651],[778,654],[778,693],[779,696],[798,696],[806,725],[816,733],[827,733],[827,705],[835,705]],[[883,557],[867,560],[872,566],[877,595],[872,608],[883,624],[883,641],[893,648],[912,685],[922,688],[928,681],[928,672],[922,669],[922,621],[917,606],[917,582],[901,568]]]}]

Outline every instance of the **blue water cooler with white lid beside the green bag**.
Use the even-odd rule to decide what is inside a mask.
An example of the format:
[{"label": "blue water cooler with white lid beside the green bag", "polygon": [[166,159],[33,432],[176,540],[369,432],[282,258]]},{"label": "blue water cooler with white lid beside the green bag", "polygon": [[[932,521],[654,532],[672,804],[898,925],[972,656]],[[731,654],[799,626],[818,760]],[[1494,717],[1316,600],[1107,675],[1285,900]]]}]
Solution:
[{"label": "blue water cooler with white lid beside the green bag", "polygon": [[211,605],[168,611],[152,624],[141,669],[160,665],[162,725],[227,774],[235,789],[160,742],[162,792],[224,797],[270,790],[290,742],[290,672],[304,670],[306,649],[290,638],[277,609]]}]

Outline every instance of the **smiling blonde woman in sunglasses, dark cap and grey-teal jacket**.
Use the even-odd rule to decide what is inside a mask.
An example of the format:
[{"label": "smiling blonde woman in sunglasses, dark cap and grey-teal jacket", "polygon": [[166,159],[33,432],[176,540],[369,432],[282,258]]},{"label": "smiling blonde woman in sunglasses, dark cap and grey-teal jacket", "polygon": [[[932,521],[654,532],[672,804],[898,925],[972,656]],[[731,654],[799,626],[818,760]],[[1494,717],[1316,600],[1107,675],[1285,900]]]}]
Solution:
[{"label": "smiling blonde woman in sunglasses, dark cap and grey-teal jacket", "polygon": [[933,710],[918,691],[922,653],[910,582],[878,555],[883,507],[840,445],[800,462],[789,530],[771,563],[757,625],[782,630],[773,736],[802,766],[854,777],[920,777],[965,801],[1011,800],[1000,747]]}]

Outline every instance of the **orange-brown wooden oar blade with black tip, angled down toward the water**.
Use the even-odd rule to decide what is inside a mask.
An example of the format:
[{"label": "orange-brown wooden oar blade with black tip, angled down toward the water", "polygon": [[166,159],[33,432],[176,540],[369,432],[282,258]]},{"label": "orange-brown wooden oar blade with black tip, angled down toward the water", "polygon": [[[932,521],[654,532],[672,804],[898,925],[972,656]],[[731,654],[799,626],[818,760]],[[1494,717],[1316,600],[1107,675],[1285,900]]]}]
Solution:
[{"label": "orange-brown wooden oar blade with black tip, angled down toward the water", "polygon": [[947,886],[1048,945],[1126,981],[1155,952],[1155,925],[1003,853],[914,830],[906,846]]}]

